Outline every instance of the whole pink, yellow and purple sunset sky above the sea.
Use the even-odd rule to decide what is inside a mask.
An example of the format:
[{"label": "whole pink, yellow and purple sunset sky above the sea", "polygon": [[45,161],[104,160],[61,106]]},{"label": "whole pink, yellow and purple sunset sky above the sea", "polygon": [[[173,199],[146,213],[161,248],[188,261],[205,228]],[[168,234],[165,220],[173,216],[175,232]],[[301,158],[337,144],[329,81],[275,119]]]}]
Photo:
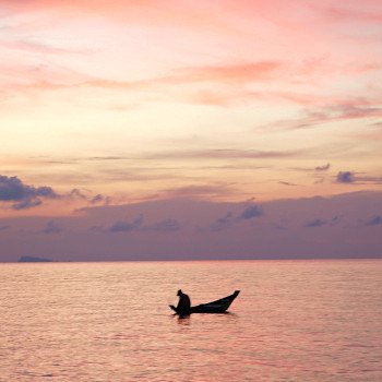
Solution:
[{"label": "whole pink, yellow and purple sunset sky above the sea", "polygon": [[382,258],[382,3],[0,0],[0,261]]}]

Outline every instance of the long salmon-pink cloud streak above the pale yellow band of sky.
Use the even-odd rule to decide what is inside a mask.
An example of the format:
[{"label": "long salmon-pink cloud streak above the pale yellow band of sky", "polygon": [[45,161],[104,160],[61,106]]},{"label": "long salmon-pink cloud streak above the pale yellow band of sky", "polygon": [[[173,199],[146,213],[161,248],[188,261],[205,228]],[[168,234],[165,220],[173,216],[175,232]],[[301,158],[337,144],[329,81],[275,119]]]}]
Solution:
[{"label": "long salmon-pink cloud streak above the pale yellow band of sky", "polygon": [[[24,46],[21,45],[21,47]],[[178,102],[229,106],[253,99],[270,98],[270,95],[264,96],[263,92],[249,91],[247,85],[275,79],[279,69],[283,67],[284,63],[278,61],[228,62],[222,65],[174,68],[165,75],[153,75],[139,81],[110,80],[75,73],[73,71],[60,74],[58,80],[57,73],[50,73],[46,68],[44,70],[39,68],[38,73],[34,73],[33,76],[28,75],[24,84],[12,84],[8,93],[14,94],[15,89],[22,92],[50,92],[87,87],[99,91],[133,93],[139,102],[150,99],[147,98],[148,93],[156,94],[162,99],[168,99],[169,95],[177,94]],[[21,73],[25,75],[25,71]],[[14,70],[13,74],[15,74]],[[177,93],[176,88],[180,86],[184,87],[186,91]],[[168,92],[169,88],[174,88],[175,91]],[[272,97],[280,98],[278,95],[272,95]],[[139,104],[131,104],[129,108],[132,106],[136,107],[136,105]]]}]

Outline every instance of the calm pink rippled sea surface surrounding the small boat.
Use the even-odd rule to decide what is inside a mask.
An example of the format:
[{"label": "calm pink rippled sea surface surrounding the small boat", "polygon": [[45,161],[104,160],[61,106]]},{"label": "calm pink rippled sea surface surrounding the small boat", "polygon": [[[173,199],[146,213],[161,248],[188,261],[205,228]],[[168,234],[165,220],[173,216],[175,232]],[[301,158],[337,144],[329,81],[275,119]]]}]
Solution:
[{"label": "calm pink rippled sea surface surrounding the small boat", "polygon": [[0,264],[0,381],[380,382],[382,261]]}]

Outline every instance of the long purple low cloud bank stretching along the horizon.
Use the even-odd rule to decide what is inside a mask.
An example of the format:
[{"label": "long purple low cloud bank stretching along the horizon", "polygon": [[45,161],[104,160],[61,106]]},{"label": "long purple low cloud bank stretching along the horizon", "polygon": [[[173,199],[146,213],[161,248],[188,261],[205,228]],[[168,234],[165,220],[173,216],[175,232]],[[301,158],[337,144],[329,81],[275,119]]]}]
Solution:
[{"label": "long purple low cloud bank stretching along the horizon", "polygon": [[381,258],[380,211],[382,192],[91,206],[0,219],[0,261],[16,261],[25,248],[55,261]]}]

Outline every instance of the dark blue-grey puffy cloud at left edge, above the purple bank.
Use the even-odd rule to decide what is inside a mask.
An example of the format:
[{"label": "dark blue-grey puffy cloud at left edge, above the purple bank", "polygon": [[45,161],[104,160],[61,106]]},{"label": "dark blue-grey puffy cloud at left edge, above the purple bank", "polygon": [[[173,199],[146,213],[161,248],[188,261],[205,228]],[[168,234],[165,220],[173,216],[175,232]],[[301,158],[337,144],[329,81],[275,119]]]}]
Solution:
[{"label": "dark blue-grey puffy cloud at left edge, above the purple bank", "polygon": [[31,208],[43,203],[41,199],[57,199],[52,188],[34,187],[23,183],[17,177],[0,176],[0,201],[16,202],[13,210]]}]

